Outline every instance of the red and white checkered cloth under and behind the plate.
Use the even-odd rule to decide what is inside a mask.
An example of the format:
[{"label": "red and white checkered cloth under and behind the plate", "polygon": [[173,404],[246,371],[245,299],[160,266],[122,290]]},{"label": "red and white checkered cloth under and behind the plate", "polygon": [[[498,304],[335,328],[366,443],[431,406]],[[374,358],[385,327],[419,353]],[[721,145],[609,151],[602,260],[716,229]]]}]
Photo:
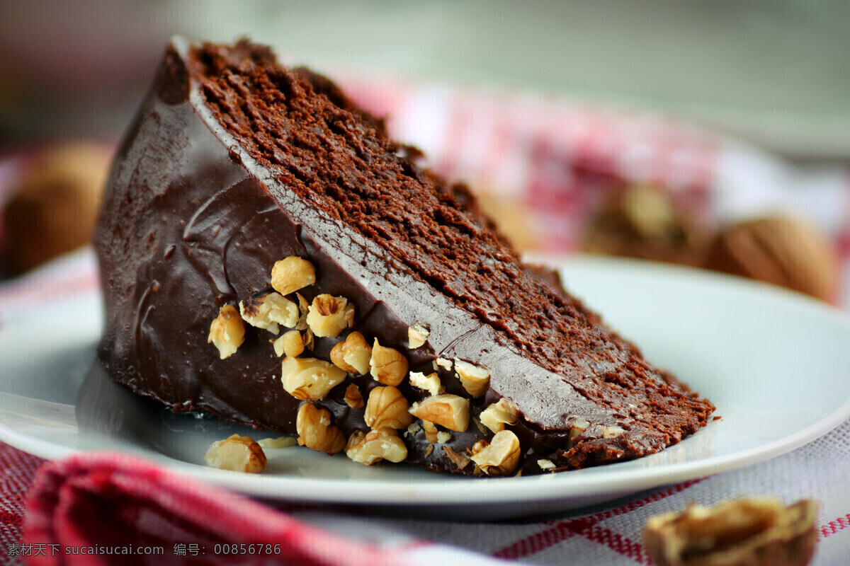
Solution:
[{"label": "red and white checkered cloth under and behind the plate", "polygon": [[[545,251],[573,251],[599,193],[654,182],[706,214],[732,219],[802,211],[850,256],[846,168],[785,164],[773,155],[659,116],[515,92],[343,80],[390,129],[426,151],[439,172],[522,202],[547,233]],[[0,167],[0,205],[9,167]],[[7,182],[3,182],[3,180]],[[845,278],[847,281],[847,278]],[[47,291],[47,293],[45,293]],[[90,250],[0,285],[0,324],[31,309],[98,293]],[[847,293],[843,295],[847,304]],[[0,346],[2,347],[2,346]],[[0,352],[2,353],[2,352]],[[634,564],[646,519],[736,496],[820,502],[819,566],[850,562],[850,423],[768,462],[650,490],[557,518],[456,523],[269,507],[160,465],[114,453],[45,463],[0,444],[0,564],[207,563],[210,544],[280,544],[269,563]],[[817,462],[814,464],[813,462]],[[164,555],[65,557],[68,546],[162,546]],[[263,546],[264,548],[264,546]],[[246,563],[257,563],[254,556]],[[133,562],[133,560],[135,562]]]}]

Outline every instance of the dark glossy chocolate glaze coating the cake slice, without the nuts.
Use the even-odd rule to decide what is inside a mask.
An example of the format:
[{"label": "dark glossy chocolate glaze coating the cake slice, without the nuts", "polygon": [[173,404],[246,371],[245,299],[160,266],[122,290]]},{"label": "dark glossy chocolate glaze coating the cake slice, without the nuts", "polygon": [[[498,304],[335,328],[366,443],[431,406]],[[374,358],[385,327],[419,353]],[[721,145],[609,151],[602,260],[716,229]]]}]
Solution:
[{"label": "dark glossy chocolate glaze coating the cake slice, without the nuts", "polygon": [[[392,249],[293,193],[213,117],[187,70],[189,53],[180,40],[168,47],[117,154],[101,210],[96,244],[107,320],[99,358],[111,378],[174,411],[203,410],[296,434],[301,401],[280,384],[280,358],[269,344],[275,336],[247,326],[244,344],[220,360],[207,334],[221,305],[269,289],[275,261],[297,255],[316,268],[316,283],[302,291],[307,299],[321,293],[346,297],[355,306],[352,330],[403,352],[412,371],[432,373],[438,356],[488,367],[490,389],[470,400],[472,414],[502,396],[519,407],[519,423],[508,428],[519,436],[524,473],[540,473],[541,458],[582,468],[640,457],[706,423],[711,403],[649,366],[577,301],[581,333],[604,348],[582,353],[576,347],[567,367],[554,372],[498,325],[439,293]],[[563,293],[545,272],[520,269]],[[426,345],[409,350],[407,329],[415,322],[427,323],[431,334]],[[330,359],[331,347],[345,335],[316,339],[314,352],[305,356]],[[452,373],[440,368],[439,374],[447,393],[469,397]],[[616,401],[619,389],[619,396],[606,393],[634,389],[636,382],[642,388],[638,405]],[[352,410],[343,401],[350,383],[358,384],[364,399],[379,385],[369,375],[349,375],[316,403],[331,411],[346,437],[354,429],[368,430],[364,409]],[[406,381],[399,389],[411,402],[428,395]],[[680,414],[670,414],[674,406]],[[590,426],[570,442],[570,429],[582,421]],[[666,427],[655,425],[662,421]],[[624,432],[609,437],[610,427]],[[457,452],[491,436],[473,423],[451,434],[447,446]],[[411,464],[473,472],[472,465],[458,470],[439,445],[429,448],[422,430],[406,435],[405,444]]]}]

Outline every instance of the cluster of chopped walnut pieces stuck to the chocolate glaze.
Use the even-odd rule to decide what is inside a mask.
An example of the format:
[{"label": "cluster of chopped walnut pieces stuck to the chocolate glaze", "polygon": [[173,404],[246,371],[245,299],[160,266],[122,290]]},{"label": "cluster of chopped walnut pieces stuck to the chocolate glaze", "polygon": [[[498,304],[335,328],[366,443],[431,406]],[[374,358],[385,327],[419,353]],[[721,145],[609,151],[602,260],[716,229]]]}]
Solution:
[{"label": "cluster of chopped walnut pieces stuck to the chocolate glaze", "polygon": [[[447,446],[453,432],[464,432],[469,427],[470,401],[445,393],[436,370],[453,372],[470,397],[480,397],[490,385],[487,367],[458,358],[437,358],[433,373],[410,372],[407,357],[401,351],[381,345],[377,338],[370,345],[362,333],[352,328],[355,309],[348,298],[318,294],[307,300],[301,292],[315,282],[316,271],[311,262],[296,256],[277,261],[271,272],[274,290],[242,300],[238,311],[233,305],[224,305],[212,322],[209,335],[223,359],[235,353],[244,341],[245,323],[276,336],[269,342],[275,355],[283,357],[283,389],[303,401],[296,418],[298,445],[328,454],[345,451],[348,458],[366,465],[383,460],[401,462],[407,457],[407,448],[398,431],[405,431],[407,436],[423,430],[429,443],[426,457],[433,453],[434,446],[442,446],[445,457],[460,469],[474,462],[476,474],[513,472],[519,462],[519,440],[505,425],[517,423],[519,414],[507,400],[491,404],[481,412],[480,422],[476,420],[482,434],[487,434],[488,429],[495,434],[490,443],[481,441],[467,453]],[[408,347],[422,347],[429,335],[428,324],[412,324],[408,328]],[[314,338],[338,339],[329,361],[304,356],[305,351],[314,349]],[[331,411],[317,403],[325,400],[337,385],[344,384],[349,375],[369,375],[377,384],[363,391],[354,383],[344,386],[343,401],[351,410],[363,410],[365,427],[355,429],[346,439]],[[411,405],[399,389],[405,382],[428,395]]]}]

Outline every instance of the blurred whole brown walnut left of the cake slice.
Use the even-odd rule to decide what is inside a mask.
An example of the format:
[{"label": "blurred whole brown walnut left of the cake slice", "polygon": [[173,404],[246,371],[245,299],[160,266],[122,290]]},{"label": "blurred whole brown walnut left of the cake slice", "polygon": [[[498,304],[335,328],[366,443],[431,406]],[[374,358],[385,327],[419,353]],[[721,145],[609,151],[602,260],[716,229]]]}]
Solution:
[{"label": "blurred whole brown walnut left of the cake slice", "polygon": [[15,275],[92,238],[110,151],[96,143],[40,149],[26,160],[3,210],[3,263]]}]

